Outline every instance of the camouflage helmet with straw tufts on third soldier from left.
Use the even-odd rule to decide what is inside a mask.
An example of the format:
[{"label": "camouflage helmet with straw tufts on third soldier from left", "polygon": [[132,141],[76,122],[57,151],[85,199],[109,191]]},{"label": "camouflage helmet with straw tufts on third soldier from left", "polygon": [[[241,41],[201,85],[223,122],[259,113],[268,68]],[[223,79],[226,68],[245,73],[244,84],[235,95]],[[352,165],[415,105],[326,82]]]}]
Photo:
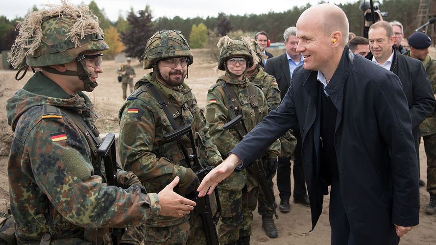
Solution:
[{"label": "camouflage helmet with straw tufts on third soldier from left", "polygon": [[[226,60],[234,56],[245,57],[247,60],[247,68],[251,67],[255,61],[258,61],[255,51],[251,47],[249,40],[246,40],[246,38],[242,38],[242,40],[233,40],[228,36],[224,36],[219,39],[217,46],[221,46],[222,43],[224,43],[224,45],[222,46],[218,57],[219,70],[225,71]],[[253,55],[255,57],[253,57]]]}]

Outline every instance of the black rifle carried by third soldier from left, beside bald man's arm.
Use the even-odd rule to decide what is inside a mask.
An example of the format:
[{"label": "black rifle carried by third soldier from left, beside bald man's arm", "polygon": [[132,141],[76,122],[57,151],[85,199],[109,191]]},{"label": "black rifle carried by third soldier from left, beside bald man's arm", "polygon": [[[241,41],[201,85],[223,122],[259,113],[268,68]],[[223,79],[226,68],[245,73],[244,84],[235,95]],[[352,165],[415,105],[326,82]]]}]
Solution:
[{"label": "black rifle carried by third soldier from left, beside bald man's arm", "polygon": [[[242,126],[243,129],[243,135],[241,131],[239,130]],[[222,126],[224,130],[233,129],[236,131],[236,133],[239,136],[239,140],[241,141],[242,138],[248,133],[247,128],[245,127],[244,120],[242,118],[242,115],[236,116],[234,119],[232,119],[230,122],[224,124]],[[257,179],[259,180],[259,185],[261,186],[262,190],[264,191],[266,201],[269,203],[269,205],[272,206],[274,210],[274,216],[276,219],[279,218],[277,215],[277,212],[275,211],[277,208],[277,202],[275,202],[274,198],[274,191],[272,189],[272,183],[269,181],[269,179],[266,177],[265,169],[264,169],[264,162],[262,160],[262,157],[256,160],[254,163],[251,163],[247,167],[248,171],[251,172]]]}]

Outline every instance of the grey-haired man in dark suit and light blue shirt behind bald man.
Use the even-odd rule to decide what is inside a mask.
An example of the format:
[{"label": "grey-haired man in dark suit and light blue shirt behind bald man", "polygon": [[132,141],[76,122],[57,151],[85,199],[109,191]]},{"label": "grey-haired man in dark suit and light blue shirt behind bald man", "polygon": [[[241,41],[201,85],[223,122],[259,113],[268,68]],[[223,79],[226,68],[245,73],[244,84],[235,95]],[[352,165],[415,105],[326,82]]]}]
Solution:
[{"label": "grey-haired man in dark suit and light blue shirt behind bald man", "polygon": [[[298,66],[303,65],[303,56],[300,52],[296,51],[298,45],[296,35],[297,28],[295,26],[285,30],[283,33],[285,53],[269,59],[265,67],[265,72],[276,78],[281,91],[281,100],[283,100],[289,89],[292,72]],[[298,132],[298,125],[293,128],[292,134],[297,139],[293,165],[294,202],[310,206],[309,197],[306,194],[303,165],[301,164],[301,135]],[[289,212],[291,210],[289,205],[289,199],[291,198],[291,157],[291,155],[279,157],[277,165],[277,188],[279,189],[279,209],[281,212]]]}]

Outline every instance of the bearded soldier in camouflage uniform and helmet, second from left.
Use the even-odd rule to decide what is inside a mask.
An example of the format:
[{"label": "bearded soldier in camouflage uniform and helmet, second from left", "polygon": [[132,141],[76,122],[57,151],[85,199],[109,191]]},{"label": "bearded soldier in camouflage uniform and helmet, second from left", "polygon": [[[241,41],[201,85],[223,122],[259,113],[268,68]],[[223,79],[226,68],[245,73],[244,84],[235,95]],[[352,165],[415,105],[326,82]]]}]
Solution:
[{"label": "bearded soldier in camouflage uniform and helmet, second from left", "polygon": [[[187,195],[199,184],[180,148],[188,147],[165,142],[165,134],[190,123],[197,149],[188,150],[199,153],[203,166],[216,166],[222,162],[209,137],[203,112],[191,88],[184,82],[194,57],[180,31],[163,30],[148,39],[143,58],[144,69],[152,68],[153,72],[145,74],[135,84],[135,91],[121,107],[121,162],[125,170],[139,177],[148,191],[160,191],[179,176],[178,193]],[[179,219],[150,219],[146,223],[145,244],[204,245],[206,238],[201,218],[193,214]]]}]

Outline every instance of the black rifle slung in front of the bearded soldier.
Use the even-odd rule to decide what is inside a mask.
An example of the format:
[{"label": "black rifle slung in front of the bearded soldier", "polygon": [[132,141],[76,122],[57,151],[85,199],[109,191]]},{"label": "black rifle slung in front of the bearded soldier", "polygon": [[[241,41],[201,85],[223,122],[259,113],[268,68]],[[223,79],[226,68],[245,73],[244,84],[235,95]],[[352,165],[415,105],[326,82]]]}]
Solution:
[{"label": "black rifle slung in front of the bearded soldier", "polygon": [[[183,141],[183,136],[185,135],[188,135],[189,141],[191,143],[192,154],[189,154],[188,150],[185,148],[185,144]],[[165,134],[164,140],[165,142],[175,141],[180,145],[188,167],[195,172],[200,182],[203,180],[206,174],[208,174],[214,168],[212,166],[201,166],[200,161],[198,160],[191,124],[188,123],[170,133]],[[219,244],[217,229],[215,228],[215,225],[217,225],[219,217],[221,216],[221,204],[219,202],[217,189],[215,189],[214,194],[215,199],[217,200],[217,212],[215,213],[215,215],[212,214],[212,207],[208,195],[198,197],[198,192],[195,191],[187,196],[189,199],[193,200],[197,204],[194,207],[194,212],[201,217],[208,245]]]}]

